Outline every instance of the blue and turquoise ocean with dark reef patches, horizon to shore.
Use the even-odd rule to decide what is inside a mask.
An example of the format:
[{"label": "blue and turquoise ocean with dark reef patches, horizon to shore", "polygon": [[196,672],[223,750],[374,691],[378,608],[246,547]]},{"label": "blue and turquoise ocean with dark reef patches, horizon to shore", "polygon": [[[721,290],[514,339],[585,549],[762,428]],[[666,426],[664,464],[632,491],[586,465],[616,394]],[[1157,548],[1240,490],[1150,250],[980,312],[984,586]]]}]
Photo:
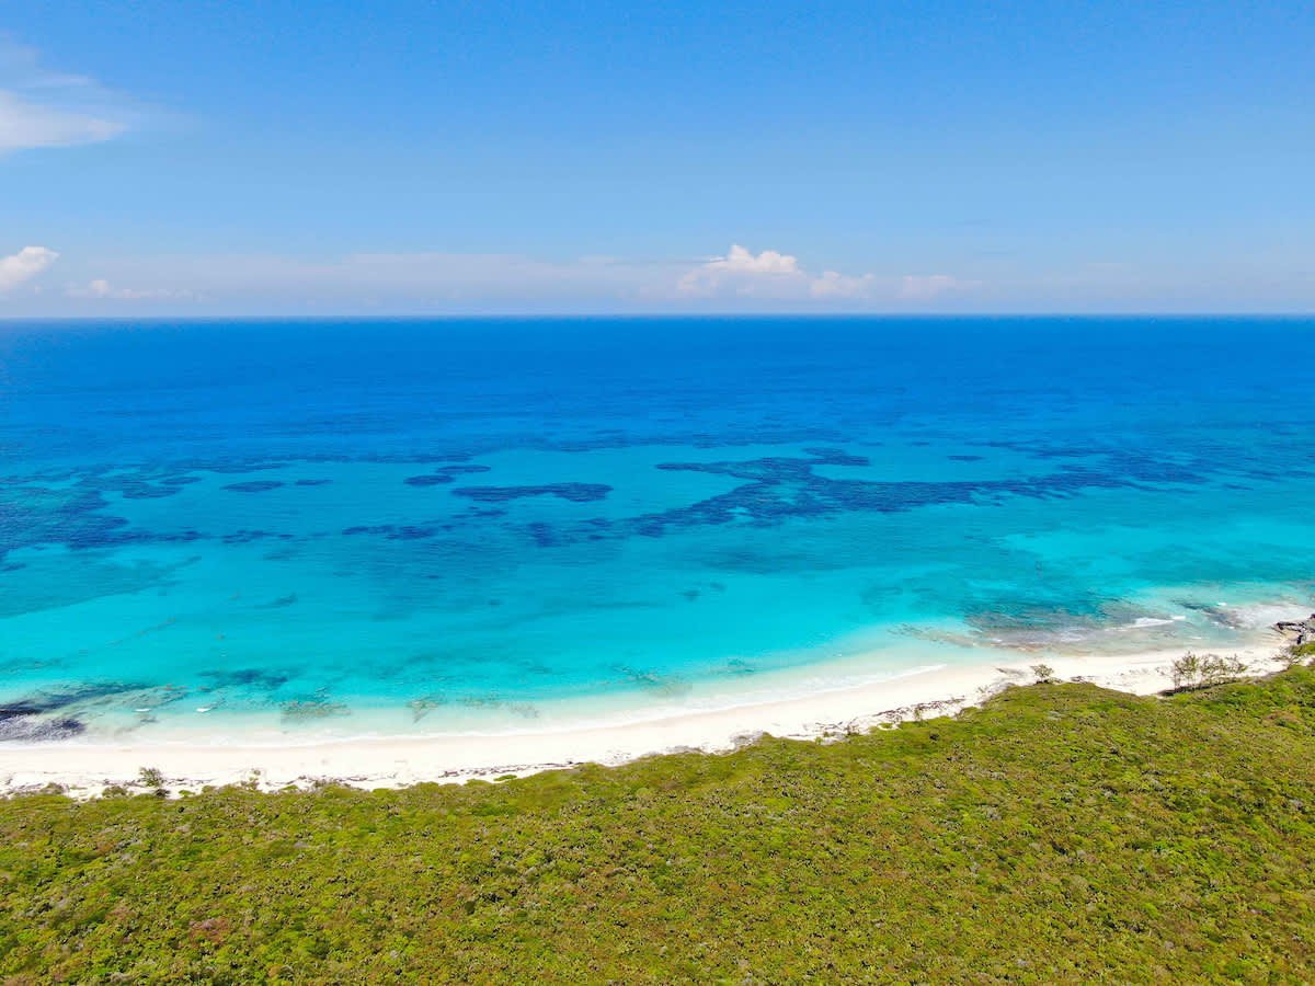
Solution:
[{"label": "blue and turquoise ocean with dark reef patches, horizon to shore", "polygon": [[11,743],[1227,651],[1312,578],[1312,319],[0,323]]}]

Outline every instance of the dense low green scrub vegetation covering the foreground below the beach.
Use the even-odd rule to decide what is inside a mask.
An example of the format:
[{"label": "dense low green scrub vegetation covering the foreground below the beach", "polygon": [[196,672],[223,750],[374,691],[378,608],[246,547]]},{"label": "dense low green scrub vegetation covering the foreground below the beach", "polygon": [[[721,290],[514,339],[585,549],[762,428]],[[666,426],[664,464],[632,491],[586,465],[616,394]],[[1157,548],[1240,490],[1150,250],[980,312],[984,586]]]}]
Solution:
[{"label": "dense low green scrub vegetation covering the foreground below the beach", "polygon": [[8,982],[1315,978],[1315,670],[500,784],[0,801]]}]

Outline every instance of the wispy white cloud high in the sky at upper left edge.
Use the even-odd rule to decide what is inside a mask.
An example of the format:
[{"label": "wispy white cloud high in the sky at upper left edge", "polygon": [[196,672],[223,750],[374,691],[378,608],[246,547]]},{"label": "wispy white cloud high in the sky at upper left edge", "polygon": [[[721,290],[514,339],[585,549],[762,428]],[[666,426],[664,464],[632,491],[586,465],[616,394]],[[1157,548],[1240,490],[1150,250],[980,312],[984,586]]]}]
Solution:
[{"label": "wispy white cloud high in the sky at upper left edge", "polygon": [[109,141],[135,118],[95,79],[47,70],[34,49],[0,37],[0,155]]}]

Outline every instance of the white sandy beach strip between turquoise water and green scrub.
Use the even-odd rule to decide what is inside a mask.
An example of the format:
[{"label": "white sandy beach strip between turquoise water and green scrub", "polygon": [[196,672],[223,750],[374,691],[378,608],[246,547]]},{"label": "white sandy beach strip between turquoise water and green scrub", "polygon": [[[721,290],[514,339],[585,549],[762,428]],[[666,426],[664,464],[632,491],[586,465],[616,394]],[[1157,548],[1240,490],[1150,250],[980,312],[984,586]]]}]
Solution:
[{"label": "white sandy beach strip between turquoise water and green scrub", "polygon": [[[1277,669],[1278,642],[1237,651],[1249,673]],[[719,710],[677,713],[644,722],[490,735],[363,738],[287,745],[114,744],[67,740],[0,748],[0,791],[60,785],[88,797],[109,785],[134,785],[155,768],[171,790],[255,782],[263,790],[335,780],[359,787],[423,781],[462,782],[583,763],[621,764],[677,749],[721,752],[763,732],[792,739],[840,736],[915,715],[956,713],[1011,684],[1035,680],[1044,661],[1060,680],[1152,694],[1170,686],[1169,664],[1182,649],[1119,656],[1041,656],[944,667],[797,698]]]}]

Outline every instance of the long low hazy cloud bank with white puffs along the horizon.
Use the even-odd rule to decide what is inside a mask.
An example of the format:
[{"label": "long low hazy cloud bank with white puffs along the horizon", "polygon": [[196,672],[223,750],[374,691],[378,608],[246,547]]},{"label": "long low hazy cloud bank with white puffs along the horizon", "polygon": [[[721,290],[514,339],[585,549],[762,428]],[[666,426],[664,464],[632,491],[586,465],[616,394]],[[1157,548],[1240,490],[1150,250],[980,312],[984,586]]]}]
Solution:
[{"label": "long low hazy cloud bank with white puffs along the horizon", "polygon": [[[36,259],[36,258],[33,258]],[[810,271],[735,245],[700,260],[523,254],[104,255],[64,258],[66,287],[33,312],[907,312],[956,304],[949,275]]]}]

